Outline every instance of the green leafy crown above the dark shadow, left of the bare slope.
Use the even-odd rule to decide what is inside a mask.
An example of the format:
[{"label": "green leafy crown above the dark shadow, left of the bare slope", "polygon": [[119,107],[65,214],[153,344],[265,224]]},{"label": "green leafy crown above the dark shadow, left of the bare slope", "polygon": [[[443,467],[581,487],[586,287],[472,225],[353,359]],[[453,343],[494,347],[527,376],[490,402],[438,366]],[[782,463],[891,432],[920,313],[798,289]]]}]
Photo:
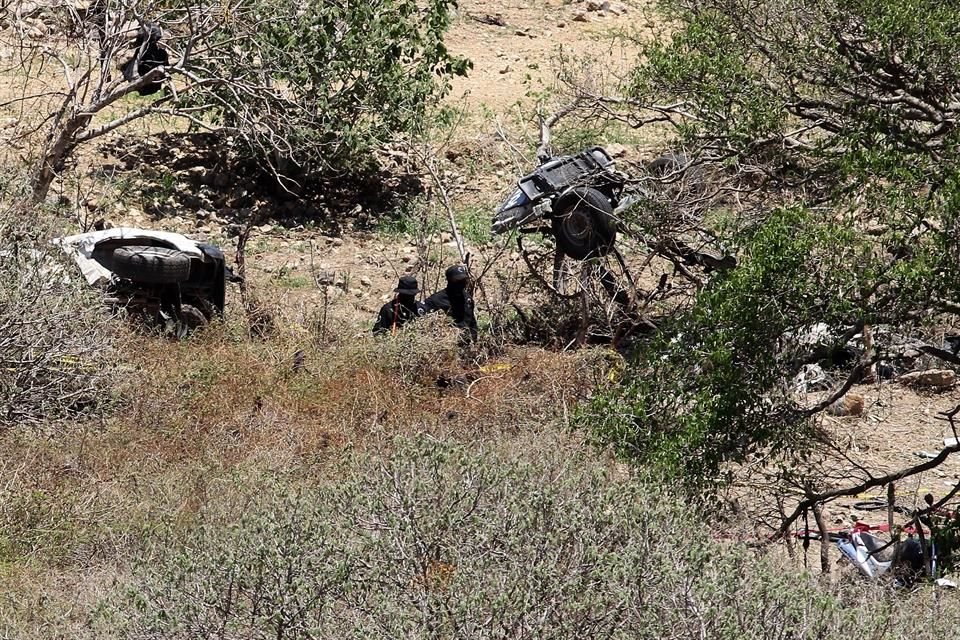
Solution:
[{"label": "green leafy crown above the dark shadow, left of the bare slope", "polygon": [[209,36],[234,55],[190,63],[234,82],[196,87],[190,100],[237,128],[281,171],[367,162],[371,147],[418,131],[448,79],[470,64],[443,43],[455,0],[302,3],[243,0]]}]

